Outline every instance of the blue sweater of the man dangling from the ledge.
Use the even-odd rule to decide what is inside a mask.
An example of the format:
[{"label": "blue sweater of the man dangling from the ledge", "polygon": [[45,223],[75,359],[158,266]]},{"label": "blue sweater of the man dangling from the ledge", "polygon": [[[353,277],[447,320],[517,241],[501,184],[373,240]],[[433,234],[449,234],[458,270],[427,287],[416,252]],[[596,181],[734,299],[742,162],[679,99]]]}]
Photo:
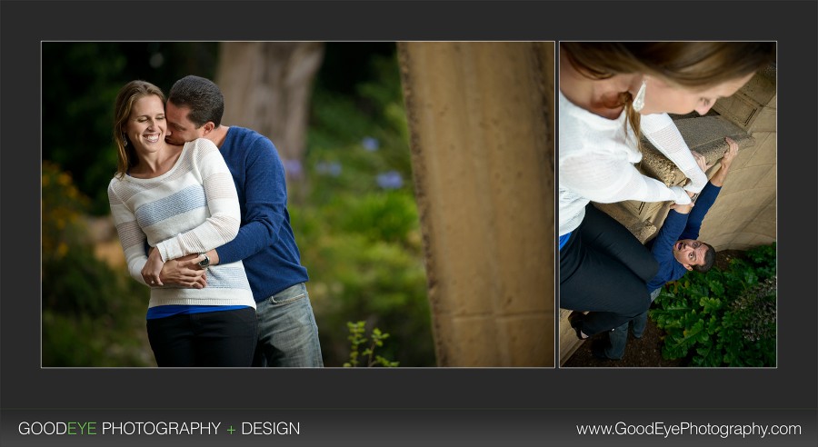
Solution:
[{"label": "blue sweater of the man dangling from the ledge", "polygon": [[681,239],[698,239],[704,214],[707,214],[710,207],[713,206],[720,191],[722,191],[720,186],[707,182],[690,213],[682,214],[676,210],[670,210],[667,214],[662,229],[659,230],[653,241],[648,243],[648,245],[653,244],[650,247],[651,253],[659,263],[659,273],[656,273],[647,283],[648,292],[653,292],[665,283],[675,281],[687,273],[682,263],[673,257],[673,245]]}]

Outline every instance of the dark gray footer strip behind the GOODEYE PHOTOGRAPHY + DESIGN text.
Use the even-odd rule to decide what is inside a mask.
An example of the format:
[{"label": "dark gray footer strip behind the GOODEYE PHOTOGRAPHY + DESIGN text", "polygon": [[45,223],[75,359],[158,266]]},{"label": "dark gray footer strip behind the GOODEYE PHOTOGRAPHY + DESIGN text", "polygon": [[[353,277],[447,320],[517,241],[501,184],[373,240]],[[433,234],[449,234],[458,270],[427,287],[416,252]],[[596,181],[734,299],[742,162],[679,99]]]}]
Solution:
[{"label": "dark gray footer strip behind the GOODEYE PHOTOGRAPHY + DESIGN text", "polygon": [[[333,447],[417,447],[463,446],[506,447],[570,445],[582,446],[761,446],[776,447],[815,445],[814,411],[753,410],[753,409],[661,409],[657,410],[596,410],[596,409],[217,409],[217,410],[43,410],[6,411],[3,421],[3,445],[32,446],[315,446]],[[96,422],[97,434],[82,435],[21,435],[21,421]],[[103,422],[221,422],[217,433],[195,435],[102,434]],[[298,435],[252,435],[242,433],[243,422],[299,422]],[[672,424],[751,425],[800,424],[801,435],[773,436],[719,434],[683,435],[605,435],[579,436],[576,424],[651,425]],[[227,427],[236,432],[230,434]],[[716,429],[721,430],[721,428]],[[718,431],[716,432],[718,433]],[[8,442],[8,443],[6,443]]]}]

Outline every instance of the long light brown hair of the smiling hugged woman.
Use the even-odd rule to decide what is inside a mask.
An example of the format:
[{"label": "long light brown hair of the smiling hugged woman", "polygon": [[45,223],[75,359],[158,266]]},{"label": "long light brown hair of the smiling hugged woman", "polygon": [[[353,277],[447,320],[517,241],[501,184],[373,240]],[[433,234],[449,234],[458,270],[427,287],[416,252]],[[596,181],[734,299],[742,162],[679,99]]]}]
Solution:
[{"label": "long light brown hair of the smiling hugged woman", "polygon": [[114,105],[114,143],[117,149],[117,178],[122,178],[122,176],[138,162],[134,144],[131,143],[128,136],[123,132],[123,128],[131,116],[134,103],[140,98],[150,95],[158,96],[159,99],[162,100],[162,104],[165,104],[165,94],[162,93],[162,89],[145,81],[131,81],[125,84],[125,86],[119,90],[119,93],[116,94],[116,102]]}]

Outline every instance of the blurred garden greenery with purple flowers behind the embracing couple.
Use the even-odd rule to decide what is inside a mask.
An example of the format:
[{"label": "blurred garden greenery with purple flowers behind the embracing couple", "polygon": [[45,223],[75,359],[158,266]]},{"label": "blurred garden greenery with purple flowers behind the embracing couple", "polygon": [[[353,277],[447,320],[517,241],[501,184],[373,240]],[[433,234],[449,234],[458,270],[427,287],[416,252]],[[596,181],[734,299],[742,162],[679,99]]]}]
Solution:
[{"label": "blurred garden greenery with purple flowers behind the embracing couple", "polygon": [[[434,366],[395,45],[313,45],[320,66],[308,81],[304,147],[283,158],[324,363],[348,360],[347,322],[364,321],[390,334],[380,355]],[[270,65],[291,62],[268,53]],[[219,43],[43,43],[43,366],[155,365],[145,333],[148,290],[127,275],[110,224],[115,94],[133,79],[167,93],[193,74],[214,79],[227,96],[232,86],[218,75],[241,77],[248,68],[220,67],[223,59]],[[229,112],[224,124],[254,127],[227,121]],[[284,137],[267,136],[283,153]]]}]

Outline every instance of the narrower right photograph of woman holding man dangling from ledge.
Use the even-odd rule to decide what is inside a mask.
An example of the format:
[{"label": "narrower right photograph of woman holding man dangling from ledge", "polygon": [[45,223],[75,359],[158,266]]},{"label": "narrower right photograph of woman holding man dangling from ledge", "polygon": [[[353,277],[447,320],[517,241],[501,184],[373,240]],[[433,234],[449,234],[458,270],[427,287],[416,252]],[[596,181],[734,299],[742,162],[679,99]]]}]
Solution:
[{"label": "narrower right photograph of woman holding man dangling from ledge", "polygon": [[560,367],[776,367],[776,44],[558,61]]}]

